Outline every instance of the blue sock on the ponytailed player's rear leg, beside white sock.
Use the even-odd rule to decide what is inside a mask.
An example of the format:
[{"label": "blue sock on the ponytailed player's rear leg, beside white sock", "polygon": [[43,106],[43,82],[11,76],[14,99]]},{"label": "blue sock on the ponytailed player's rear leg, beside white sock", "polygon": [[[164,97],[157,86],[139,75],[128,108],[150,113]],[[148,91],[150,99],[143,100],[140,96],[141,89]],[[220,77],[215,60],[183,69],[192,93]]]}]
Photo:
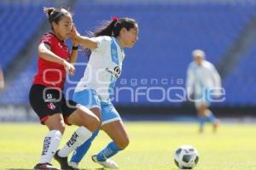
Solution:
[{"label": "blue sock on the ponytailed player's rear leg, beside white sock", "polygon": [[86,140],[84,144],[80,145],[76,150],[74,150],[70,161],[79,163],[89,150],[91,142],[96,138],[98,133],[99,130],[97,129],[94,133],[92,133],[90,139]]}]

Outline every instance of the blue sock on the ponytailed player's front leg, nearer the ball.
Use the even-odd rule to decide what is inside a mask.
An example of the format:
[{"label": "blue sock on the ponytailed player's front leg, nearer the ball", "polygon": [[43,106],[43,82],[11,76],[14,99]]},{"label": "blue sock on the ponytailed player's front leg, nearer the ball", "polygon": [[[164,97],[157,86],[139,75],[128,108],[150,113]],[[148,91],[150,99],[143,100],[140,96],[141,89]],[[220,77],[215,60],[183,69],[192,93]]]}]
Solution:
[{"label": "blue sock on the ponytailed player's front leg, nearer the ball", "polygon": [[119,147],[112,141],[104,148],[100,153],[97,154],[98,161],[106,161],[109,157],[114,156],[119,152]]}]

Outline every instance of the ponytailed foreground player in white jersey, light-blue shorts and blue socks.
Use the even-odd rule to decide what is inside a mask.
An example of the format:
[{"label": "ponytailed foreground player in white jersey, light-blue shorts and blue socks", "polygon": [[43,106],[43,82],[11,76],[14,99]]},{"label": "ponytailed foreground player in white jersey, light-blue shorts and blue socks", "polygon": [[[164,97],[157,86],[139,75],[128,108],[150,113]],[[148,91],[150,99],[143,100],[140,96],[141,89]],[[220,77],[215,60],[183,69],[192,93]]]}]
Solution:
[{"label": "ponytailed foreground player in white jersey, light-blue shorts and blue socks", "polygon": [[[138,40],[138,26],[136,20],[131,18],[118,19],[113,17],[105,26],[94,32],[93,37],[80,36],[79,32],[73,34],[84,48],[91,51],[84,77],[79,81],[73,100],[86,105],[102,120],[101,129],[113,139],[92,160],[103,167],[116,169],[118,165],[109,158],[124,150],[129,144],[128,134],[124,123],[115,110],[109,95],[113,92],[116,80],[122,71],[122,62],[125,58],[124,48],[132,48]],[[78,167],[79,161],[90,148],[92,137],[74,151],[69,162],[72,167]]]}]

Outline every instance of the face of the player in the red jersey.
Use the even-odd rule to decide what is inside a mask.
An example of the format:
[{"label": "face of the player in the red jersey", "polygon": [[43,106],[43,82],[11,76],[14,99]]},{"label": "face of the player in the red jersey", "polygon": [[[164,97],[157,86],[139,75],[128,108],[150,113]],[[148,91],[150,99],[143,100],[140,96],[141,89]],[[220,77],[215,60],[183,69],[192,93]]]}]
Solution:
[{"label": "face of the player in the red jersey", "polygon": [[59,23],[55,25],[55,34],[62,40],[67,39],[70,36],[73,20],[71,14],[64,15]]}]

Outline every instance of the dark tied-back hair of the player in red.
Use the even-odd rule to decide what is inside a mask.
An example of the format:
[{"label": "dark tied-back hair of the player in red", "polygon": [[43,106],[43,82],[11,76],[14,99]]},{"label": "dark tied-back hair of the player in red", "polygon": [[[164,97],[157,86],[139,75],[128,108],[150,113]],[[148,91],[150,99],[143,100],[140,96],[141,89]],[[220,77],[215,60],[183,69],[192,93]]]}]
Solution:
[{"label": "dark tied-back hair of the player in red", "polygon": [[[64,15],[71,14],[68,8],[53,8],[44,7],[44,13],[47,15],[51,29],[53,30],[52,23],[59,23]],[[72,14],[71,14],[72,15]]]}]

